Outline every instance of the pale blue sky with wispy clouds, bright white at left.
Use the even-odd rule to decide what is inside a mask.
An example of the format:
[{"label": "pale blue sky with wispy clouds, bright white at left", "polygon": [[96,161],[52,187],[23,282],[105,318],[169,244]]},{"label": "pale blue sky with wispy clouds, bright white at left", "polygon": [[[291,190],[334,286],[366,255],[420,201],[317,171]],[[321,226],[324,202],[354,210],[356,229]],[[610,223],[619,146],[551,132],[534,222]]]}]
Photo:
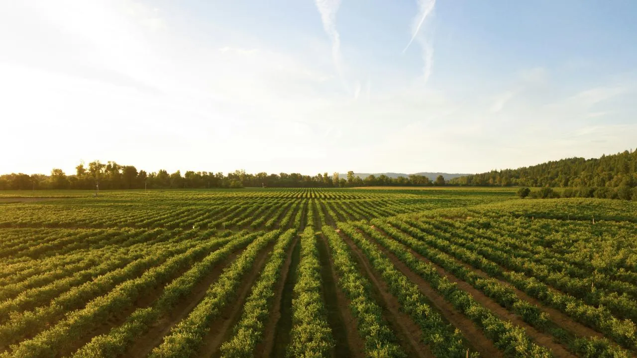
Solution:
[{"label": "pale blue sky with wispy clouds, bright white at left", "polygon": [[0,173],[478,173],[637,147],[637,2],[0,0]]}]

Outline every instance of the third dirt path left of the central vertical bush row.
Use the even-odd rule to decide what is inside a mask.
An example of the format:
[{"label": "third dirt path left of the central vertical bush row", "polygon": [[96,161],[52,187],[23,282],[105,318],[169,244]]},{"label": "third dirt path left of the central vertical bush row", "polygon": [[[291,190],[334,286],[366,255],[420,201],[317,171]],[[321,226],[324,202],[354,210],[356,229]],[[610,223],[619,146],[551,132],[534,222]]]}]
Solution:
[{"label": "third dirt path left of the central vertical bush row", "polygon": [[221,275],[224,268],[229,266],[243,250],[245,250],[245,248],[233,252],[233,254],[230,254],[222,262],[217,263],[204,280],[194,287],[191,294],[183,297],[180,303],[167,315],[157,320],[147,333],[135,340],[134,345],[131,345],[125,352],[124,357],[146,357],[153,348],[161,345],[164,336],[166,336],[176,324],[185,319],[190,311],[201,302],[203,297],[206,296],[208,287],[217,281],[217,278]]}]

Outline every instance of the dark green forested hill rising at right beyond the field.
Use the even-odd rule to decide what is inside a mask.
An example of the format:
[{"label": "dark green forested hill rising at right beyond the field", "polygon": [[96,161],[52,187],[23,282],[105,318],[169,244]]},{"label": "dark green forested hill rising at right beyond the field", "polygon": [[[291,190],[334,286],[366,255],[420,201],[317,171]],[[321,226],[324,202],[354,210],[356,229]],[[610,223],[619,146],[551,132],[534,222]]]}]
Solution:
[{"label": "dark green forested hill rising at right beyond the field", "polygon": [[568,158],[518,169],[461,176],[451,185],[526,187],[620,187],[637,186],[637,151],[600,158]]}]

